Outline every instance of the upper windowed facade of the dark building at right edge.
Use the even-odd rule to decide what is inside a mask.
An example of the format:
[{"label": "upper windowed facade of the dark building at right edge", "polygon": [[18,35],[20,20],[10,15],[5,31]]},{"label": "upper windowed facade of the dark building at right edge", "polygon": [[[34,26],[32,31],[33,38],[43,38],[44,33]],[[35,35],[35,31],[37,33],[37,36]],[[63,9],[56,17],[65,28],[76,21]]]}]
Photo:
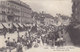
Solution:
[{"label": "upper windowed facade of the dark building at right edge", "polygon": [[80,0],[72,0],[72,17],[75,22],[80,23]]}]

